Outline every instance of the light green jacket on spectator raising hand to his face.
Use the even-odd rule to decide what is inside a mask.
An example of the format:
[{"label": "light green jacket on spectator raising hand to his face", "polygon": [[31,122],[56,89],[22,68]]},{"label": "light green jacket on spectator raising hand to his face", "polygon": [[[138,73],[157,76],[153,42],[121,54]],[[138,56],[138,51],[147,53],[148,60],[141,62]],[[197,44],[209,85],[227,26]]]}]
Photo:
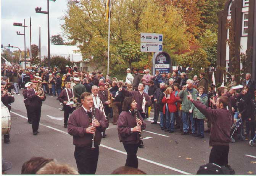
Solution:
[{"label": "light green jacket on spectator raising hand to his face", "polygon": [[[194,88],[192,88],[192,89],[193,89],[192,97],[195,97],[195,95],[198,94],[198,91]],[[189,95],[187,89],[181,90],[179,93],[179,97],[183,98],[182,104],[181,104],[181,110],[185,111],[186,113],[189,113],[189,109],[191,109],[191,107],[192,107],[192,102],[190,100],[188,100],[187,95]]]}]

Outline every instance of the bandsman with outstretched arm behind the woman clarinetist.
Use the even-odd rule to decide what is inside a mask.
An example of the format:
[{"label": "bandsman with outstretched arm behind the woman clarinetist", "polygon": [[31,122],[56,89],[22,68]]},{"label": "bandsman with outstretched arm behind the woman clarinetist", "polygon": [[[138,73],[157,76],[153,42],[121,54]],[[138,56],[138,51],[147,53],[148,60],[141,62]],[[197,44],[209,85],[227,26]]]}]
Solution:
[{"label": "bandsman with outstretched arm behind the woman clarinetist", "polygon": [[140,115],[145,119],[146,112],[143,112],[143,109],[145,110],[146,107],[142,107],[143,98],[145,98],[145,106],[150,107],[151,106],[151,98],[144,92],[144,84],[140,83],[138,85],[138,91],[132,91],[129,92],[124,88],[119,88],[119,91],[122,91],[124,93],[125,97],[134,97],[134,100],[137,103],[137,109]]}]

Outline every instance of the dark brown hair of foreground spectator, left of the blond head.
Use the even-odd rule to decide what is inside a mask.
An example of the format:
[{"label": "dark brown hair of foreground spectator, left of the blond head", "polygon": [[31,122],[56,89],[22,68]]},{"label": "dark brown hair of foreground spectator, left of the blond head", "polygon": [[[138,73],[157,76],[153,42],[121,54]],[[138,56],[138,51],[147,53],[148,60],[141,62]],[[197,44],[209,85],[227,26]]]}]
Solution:
[{"label": "dark brown hair of foreground spectator, left of the blond head", "polygon": [[23,163],[21,174],[35,174],[40,168],[52,161],[53,159],[50,158],[32,157],[30,160]]}]

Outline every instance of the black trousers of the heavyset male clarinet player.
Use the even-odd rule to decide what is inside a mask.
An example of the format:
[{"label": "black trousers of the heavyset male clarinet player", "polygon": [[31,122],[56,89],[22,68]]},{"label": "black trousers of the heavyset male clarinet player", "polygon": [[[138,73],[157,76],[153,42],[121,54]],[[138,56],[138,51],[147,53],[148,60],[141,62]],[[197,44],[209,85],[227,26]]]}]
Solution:
[{"label": "black trousers of the heavyset male clarinet player", "polygon": [[74,156],[76,159],[79,174],[95,174],[99,157],[99,146],[75,147]]}]

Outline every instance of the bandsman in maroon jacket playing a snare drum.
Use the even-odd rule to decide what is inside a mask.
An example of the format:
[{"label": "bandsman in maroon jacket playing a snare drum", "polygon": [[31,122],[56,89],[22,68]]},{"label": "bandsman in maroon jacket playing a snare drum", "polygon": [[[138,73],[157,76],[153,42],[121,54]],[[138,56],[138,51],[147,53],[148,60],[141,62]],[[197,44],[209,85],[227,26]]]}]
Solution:
[{"label": "bandsman in maroon jacket playing a snare drum", "polygon": [[74,101],[70,101],[70,98],[74,97],[74,91],[71,87],[71,82],[66,81],[65,82],[66,88],[61,90],[61,93],[58,97],[58,100],[63,103],[63,109],[64,109],[64,128],[68,128],[68,117],[69,114],[72,114],[74,110],[76,110],[76,107],[70,107],[71,102],[74,103]]}]

